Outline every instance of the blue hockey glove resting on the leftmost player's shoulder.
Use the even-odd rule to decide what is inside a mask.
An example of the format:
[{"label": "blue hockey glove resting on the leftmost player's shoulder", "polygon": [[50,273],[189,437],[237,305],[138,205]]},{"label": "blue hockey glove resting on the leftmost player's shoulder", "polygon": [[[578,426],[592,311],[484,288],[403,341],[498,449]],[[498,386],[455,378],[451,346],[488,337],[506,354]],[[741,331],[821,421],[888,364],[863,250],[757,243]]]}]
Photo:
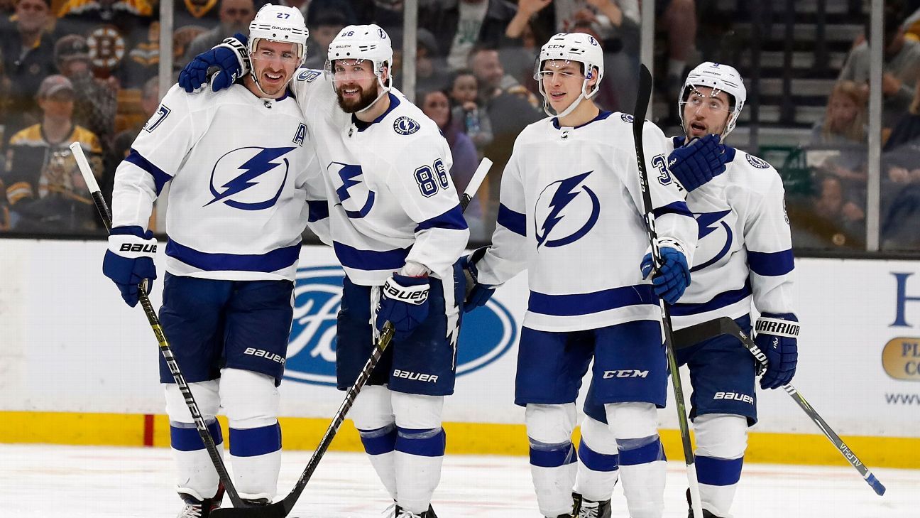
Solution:
[{"label": "blue hockey glove resting on the leftmost player's shoulder", "polygon": [[178,86],[191,93],[201,90],[213,72],[211,89],[221,90],[234,84],[237,77],[248,72],[248,38],[236,33],[210,51],[200,53],[178,73]]}]

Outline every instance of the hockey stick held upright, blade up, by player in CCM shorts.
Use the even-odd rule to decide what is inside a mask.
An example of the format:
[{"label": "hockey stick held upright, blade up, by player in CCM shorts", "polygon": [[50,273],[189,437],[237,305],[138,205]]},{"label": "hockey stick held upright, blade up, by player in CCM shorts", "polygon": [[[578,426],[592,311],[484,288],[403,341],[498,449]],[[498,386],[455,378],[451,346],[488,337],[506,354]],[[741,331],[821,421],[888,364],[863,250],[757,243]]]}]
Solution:
[{"label": "hockey stick held upright, blade up, by player in CCM shorts", "polygon": [[[663,261],[661,260],[661,250],[659,250],[658,246],[658,232],[655,231],[655,214],[651,205],[649,173],[645,170],[645,151],[642,146],[642,126],[645,123],[645,113],[649,109],[650,98],[651,73],[645,65],[639,65],[638,97],[636,98],[636,112],[633,114],[633,139],[636,142],[638,178],[639,185],[642,187],[642,205],[645,209],[645,230],[649,236],[651,256],[654,260],[654,269],[657,272]],[[687,423],[686,404],[684,403],[684,388],[681,386],[681,374],[678,371],[677,359],[674,358],[671,309],[661,298],[658,300],[658,305],[661,308],[661,327],[664,329],[664,345],[668,356],[668,368],[671,371],[674,402],[677,405],[677,422],[681,429],[681,443],[684,446],[684,462],[687,466],[687,481],[690,484],[690,507],[693,509],[694,518],[703,518],[699,484],[696,482],[693,445],[690,442],[690,425]]]}]

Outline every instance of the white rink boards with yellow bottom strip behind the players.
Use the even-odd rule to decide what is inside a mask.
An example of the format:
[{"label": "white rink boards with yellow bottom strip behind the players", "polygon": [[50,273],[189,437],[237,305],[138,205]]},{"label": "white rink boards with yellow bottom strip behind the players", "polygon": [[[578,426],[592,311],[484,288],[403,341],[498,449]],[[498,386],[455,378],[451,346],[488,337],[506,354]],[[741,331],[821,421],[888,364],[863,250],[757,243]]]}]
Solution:
[{"label": "white rink boards with yellow bottom strip behind the players", "polygon": [[[0,240],[0,442],[168,444],[156,341],[143,311],[102,276],[105,246]],[[920,262],[800,259],[797,272],[793,383],[863,462],[920,468]],[[314,448],[341,403],[329,385],[341,276],[331,249],[304,247],[282,383],[288,449]],[[160,288],[157,280],[155,305]],[[527,295],[526,276],[515,277],[468,315],[444,408],[453,453],[526,454],[512,393]],[[758,399],[748,461],[845,462],[787,394]],[[673,406],[660,417],[668,453],[680,458]],[[359,448],[343,427],[333,449]]]}]

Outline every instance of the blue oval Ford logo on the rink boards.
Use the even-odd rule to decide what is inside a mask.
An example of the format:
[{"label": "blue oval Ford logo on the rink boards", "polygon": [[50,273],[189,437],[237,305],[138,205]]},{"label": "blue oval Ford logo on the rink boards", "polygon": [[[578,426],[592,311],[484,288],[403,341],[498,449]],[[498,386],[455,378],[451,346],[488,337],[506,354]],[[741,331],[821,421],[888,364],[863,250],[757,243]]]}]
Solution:
[{"label": "blue oval Ford logo on the rink boards", "polygon": [[[336,314],[345,273],[338,265],[297,269],[293,324],[284,377],[300,383],[336,384]],[[466,313],[457,344],[457,375],[500,359],[517,341],[518,324],[499,301]]]}]

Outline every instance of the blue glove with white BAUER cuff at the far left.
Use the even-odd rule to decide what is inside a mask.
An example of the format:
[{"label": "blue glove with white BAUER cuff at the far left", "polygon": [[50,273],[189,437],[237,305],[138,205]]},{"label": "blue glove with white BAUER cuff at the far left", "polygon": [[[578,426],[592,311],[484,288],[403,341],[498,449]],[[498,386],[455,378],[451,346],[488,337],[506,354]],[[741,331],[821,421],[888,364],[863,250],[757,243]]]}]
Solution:
[{"label": "blue glove with white BAUER cuff at the far left", "polygon": [[121,290],[121,298],[132,308],[137,305],[137,285],[149,280],[154,286],[156,240],[150,230],[140,227],[115,227],[109,233],[109,250],[102,260],[102,273]]}]

